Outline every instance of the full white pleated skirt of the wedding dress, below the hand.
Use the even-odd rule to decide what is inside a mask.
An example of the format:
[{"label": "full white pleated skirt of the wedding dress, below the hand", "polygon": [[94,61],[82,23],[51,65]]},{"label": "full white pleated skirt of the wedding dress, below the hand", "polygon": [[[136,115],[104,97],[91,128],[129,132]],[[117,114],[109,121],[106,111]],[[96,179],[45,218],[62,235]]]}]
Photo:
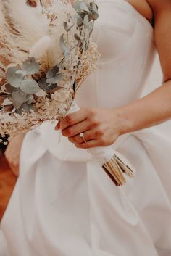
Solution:
[{"label": "full white pleated skirt of the wedding dress, below the hand", "polygon": [[1,223],[9,255],[170,256],[171,144],[159,131],[130,134],[117,148],[137,169],[119,188],[98,162],[60,161],[28,133]]}]

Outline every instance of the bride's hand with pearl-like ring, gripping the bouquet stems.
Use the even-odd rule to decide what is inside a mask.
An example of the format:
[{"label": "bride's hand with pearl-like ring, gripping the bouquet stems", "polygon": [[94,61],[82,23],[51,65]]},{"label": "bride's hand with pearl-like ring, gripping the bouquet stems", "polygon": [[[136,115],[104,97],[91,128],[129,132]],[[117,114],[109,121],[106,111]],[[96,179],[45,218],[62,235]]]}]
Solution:
[{"label": "bride's hand with pearl-like ring, gripping the bouquet stems", "polygon": [[[82,149],[109,146],[121,134],[120,117],[117,110],[84,108],[64,117],[56,130],[62,128],[63,136]],[[83,133],[83,137],[80,137]]]}]

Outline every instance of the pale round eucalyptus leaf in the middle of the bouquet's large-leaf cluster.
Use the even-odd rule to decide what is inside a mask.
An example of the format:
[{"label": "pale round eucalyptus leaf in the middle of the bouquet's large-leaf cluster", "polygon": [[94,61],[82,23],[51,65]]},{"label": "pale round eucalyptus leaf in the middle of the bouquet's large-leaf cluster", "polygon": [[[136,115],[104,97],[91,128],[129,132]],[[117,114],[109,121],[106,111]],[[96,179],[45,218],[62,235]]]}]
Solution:
[{"label": "pale round eucalyptus leaf in the middle of the bouquet's large-leaf cluster", "polygon": [[39,91],[38,83],[33,79],[24,80],[20,89],[25,92],[25,94],[36,94]]}]

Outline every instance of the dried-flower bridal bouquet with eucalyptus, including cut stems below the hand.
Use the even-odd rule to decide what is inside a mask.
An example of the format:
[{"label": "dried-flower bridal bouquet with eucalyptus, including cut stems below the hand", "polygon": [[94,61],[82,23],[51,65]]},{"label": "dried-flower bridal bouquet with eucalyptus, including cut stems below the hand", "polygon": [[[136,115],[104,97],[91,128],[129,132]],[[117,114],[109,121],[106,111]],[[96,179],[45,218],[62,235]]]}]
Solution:
[{"label": "dried-flower bridal bouquet with eucalyptus, including cut stems below the hand", "polygon": [[[0,133],[12,138],[69,112],[83,80],[96,69],[92,0],[0,0]],[[111,146],[89,150],[117,186],[135,171]]]}]

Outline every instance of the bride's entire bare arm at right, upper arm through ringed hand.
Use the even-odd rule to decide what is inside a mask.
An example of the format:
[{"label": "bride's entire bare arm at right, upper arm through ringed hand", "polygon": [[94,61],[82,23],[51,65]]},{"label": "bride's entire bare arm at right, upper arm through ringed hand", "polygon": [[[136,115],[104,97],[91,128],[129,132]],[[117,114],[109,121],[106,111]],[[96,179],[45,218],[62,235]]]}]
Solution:
[{"label": "bride's entire bare arm at right, upper arm through ringed hand", "polygon": [[[79,148],[107,146],[118,136],[157,125],[171,117],[171,1],[149,0],[164,83],[148,96],[113,110],[84,109],[62,121],[62,133]],[[59,128],[59,126],[57,127]],[[83,143],[79,133],[88,141]]]}]

